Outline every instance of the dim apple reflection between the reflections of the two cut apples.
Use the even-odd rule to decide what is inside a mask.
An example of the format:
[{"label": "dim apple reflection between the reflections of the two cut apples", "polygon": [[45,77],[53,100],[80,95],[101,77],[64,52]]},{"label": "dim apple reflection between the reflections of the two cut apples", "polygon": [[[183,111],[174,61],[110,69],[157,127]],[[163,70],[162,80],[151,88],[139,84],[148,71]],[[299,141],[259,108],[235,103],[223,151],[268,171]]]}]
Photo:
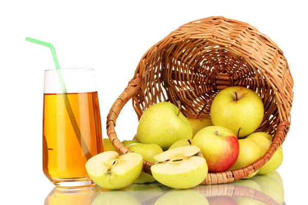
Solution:
[{"label": "dim apple reflection between the reflections of the two cut apples", "polygon": [[134,183],[131,186],[124,188],[123,190],[128,191],[133,196],[139,199],[141,203],[145,201],[163,195],[163,192],[157,185],[153,185],[152,183],[148,185],[139,185]]}]

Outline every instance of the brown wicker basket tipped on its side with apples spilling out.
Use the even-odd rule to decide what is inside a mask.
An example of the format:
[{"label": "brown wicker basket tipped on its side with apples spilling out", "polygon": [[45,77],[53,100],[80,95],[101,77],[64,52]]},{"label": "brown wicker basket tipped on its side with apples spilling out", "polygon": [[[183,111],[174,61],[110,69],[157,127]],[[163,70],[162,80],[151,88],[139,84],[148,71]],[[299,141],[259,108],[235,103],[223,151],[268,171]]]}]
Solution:
[{"label": "brown wicker basket tipped on its side with apples spilling out", "polygon": [[[266,35],[243,22],[209,17],[181,26],[141,58],[133,78],[112,105],[107,134],[120,153],[129,152],[115,133],[115,121],[132,98],[140,119],[160,101],[181,101],[185,116],[208,115],[215,95],[228,86],[247,87],[264,103],[264,118],[257,131],[275,134],[272,146],[259,160],[241,169],[208,173],[202,184],[227,183],[262,167],[282,144],[290,128],[293,78],[282,51]],[[143,171],[151,174],[151,163]]]}]

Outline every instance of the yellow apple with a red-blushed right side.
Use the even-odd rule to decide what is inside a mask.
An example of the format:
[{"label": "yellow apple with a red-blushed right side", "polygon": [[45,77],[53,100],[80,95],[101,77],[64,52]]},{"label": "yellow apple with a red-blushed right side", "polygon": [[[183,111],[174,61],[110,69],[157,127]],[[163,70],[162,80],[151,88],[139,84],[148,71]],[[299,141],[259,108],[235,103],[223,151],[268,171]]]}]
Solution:
[{"label": "yellow apple with a red-blushed right side", "polygon": [[200,130],[191,145],[201,149],[209,172],[223,172],[234,165],[239,155],[239,141],[230,130],[209,126]]}]

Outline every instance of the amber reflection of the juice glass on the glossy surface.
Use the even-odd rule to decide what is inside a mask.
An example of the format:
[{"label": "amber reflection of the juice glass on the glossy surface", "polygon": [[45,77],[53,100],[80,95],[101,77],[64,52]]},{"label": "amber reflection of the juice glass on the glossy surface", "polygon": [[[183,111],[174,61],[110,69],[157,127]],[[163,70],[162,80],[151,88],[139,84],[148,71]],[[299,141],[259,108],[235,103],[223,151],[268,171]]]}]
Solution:
[{"label": "amber reflection of the juice glass on the glossy surface", "polygon": [[45,205],[90,205],[100,194],[97,186],[90,185],[82,188],[53,188],[45,199]]}]

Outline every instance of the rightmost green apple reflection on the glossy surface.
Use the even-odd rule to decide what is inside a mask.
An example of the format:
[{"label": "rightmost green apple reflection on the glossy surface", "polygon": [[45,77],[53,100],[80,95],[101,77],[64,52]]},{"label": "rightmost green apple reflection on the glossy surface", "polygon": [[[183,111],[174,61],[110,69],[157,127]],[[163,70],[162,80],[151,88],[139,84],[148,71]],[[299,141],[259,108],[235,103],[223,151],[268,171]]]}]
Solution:
[{"label": "rightmost green apple reflection on the glossy surface", "polygon": [[284,201],[284,189],[279,180],[268,175],[258,175],[254,176],[252,180],[256,181],[262,192],[267,196],[273,198],[279,204]]}]

